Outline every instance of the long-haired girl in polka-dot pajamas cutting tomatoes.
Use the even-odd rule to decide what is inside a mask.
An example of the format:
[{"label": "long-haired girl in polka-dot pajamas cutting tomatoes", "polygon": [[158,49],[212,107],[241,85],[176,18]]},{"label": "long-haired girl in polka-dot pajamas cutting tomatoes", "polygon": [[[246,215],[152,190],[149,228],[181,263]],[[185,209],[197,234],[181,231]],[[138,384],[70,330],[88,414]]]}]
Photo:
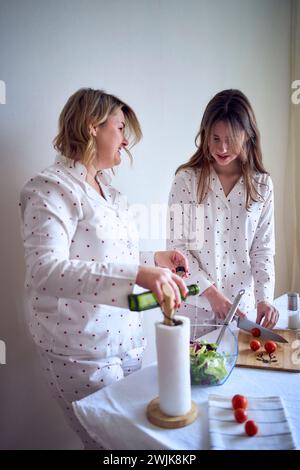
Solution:
[{"label": "long-haired girl in polka-dot pajamas cutting tomatoes", "polygon": [[[238,291],[245,289],[243,312],[256,307],[257,323],[273,328],[279,317],[272,305],[273,185],[247,97],[239,90],[218,93],[206,107],[195,142],[197,151],[178,168],[169,197],[169,249],[186,253],[189,282],[200,287],[200,296],[187,299],[181,313],[192,323],[224,319]],[[189,236],[178,234],[182,221],[176,220],[174,207],[195,219],[186,208],[199,204],[204,205],[203,243],[191,250]],[[196,241],[199,245],[199,237]]]}]

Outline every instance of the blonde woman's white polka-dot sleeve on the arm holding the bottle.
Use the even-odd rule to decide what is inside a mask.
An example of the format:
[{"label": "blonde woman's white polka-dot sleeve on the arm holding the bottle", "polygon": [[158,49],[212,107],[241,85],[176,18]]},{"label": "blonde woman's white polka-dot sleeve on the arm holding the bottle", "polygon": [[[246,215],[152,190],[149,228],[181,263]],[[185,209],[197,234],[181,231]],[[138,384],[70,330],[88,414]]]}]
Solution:
[{"label": "blonde woman's white polka-dot sleeve on the arm holding the bottle", "polygon": [[37,292],[57,298],[128,308],[127,296],[133,290],[138,266],[69,258],[83,214],[76,190],[66,186],[61,194],[62,186],[38,175],[22,189],[26,282]]}]

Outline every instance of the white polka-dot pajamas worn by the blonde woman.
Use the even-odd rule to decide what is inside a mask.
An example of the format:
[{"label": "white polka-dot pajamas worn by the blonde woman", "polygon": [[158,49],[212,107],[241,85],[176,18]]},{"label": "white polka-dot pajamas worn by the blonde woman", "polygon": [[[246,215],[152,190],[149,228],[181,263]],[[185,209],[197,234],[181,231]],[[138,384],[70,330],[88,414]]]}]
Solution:
[{"label": "white polka-dot pajamas worn by the blonde woman", "polygon": [[20,201],[29,326],[54,394],[75,421],[72,401],[139,369],[145,348],[141,314],[127,300],[138,232],[108,173],[98,178],[105,199],[86,182],[84,165],[57,157]]}]

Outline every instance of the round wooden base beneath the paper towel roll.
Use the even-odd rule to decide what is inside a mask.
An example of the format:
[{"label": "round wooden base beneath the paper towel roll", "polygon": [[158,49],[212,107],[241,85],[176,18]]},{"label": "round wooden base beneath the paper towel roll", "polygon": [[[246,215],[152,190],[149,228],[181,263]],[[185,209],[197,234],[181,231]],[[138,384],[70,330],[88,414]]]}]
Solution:
[{"label": "round wooden base beneath the paper towel roll", "polygon": [[160,428],[176,429],[183,428],[191,424],[197,418],[198,408],[195,402],[192,401],[192,408],[183,416],[169,416],[165,415],[159,407],[159,398],[150,401],[147,406],[147,418],[150,423],[159,426]]}]

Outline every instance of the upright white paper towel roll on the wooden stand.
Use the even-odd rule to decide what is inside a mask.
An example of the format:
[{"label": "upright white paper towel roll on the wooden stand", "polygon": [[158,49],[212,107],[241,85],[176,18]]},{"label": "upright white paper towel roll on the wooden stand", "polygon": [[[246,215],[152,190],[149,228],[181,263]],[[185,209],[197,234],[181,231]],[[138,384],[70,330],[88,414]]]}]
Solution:
[{"label": "upright white paper towel roll on the wooden stand", "polygon": [[168,326],[156,323],[159,406],[169,416],[182,416],[192,406],[190,378],[190,320]]}]

